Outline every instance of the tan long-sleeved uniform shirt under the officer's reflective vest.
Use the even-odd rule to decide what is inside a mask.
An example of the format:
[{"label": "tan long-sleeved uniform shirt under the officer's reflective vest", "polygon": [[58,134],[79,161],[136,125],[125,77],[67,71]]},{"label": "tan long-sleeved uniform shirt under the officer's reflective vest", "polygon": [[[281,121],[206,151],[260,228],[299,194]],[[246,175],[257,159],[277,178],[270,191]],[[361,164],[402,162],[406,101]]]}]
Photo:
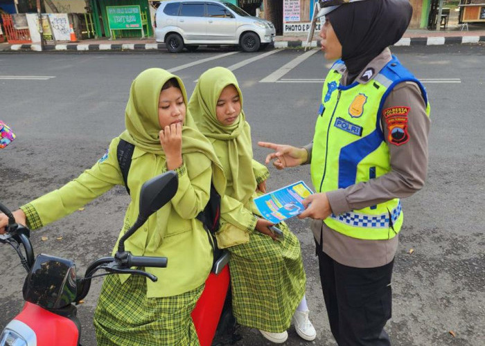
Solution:
[{"label": "tan long-sleeved uniform shirt under the officer's reflective vest", "polygon": [[[378,71],[389,61],[391,61],[391,51],[386,48],[369,62],[355,81],[362,84],[372,82]],[[369,68],[376,73],[369,80],[362,78],[362,74]],[[345,85],[348,74],[345,67],[340,73],[342,73],[340,82]],[[389,146],[391,171],[377,179],[326,192],[335,215],[373,206],[389,199],[408,197],[423,187],[427,173],[427,136],[430,130],[430,118],[426,115],[426,104],[419,86],[414,82],[397,84],[387,96],[382,109],[392,107],[410,108],[407,115],[409,140],[401,145],[390,143],[387,123],[384,116],[381,116],[380,125]],[[307,163],[310,163],[312,143],[306,145],[305,149],[309,153]],[[392,239],[366,240],[338,233],[321,220],[312,220],[311,227],[324,253],[346,266],[357,268],[384,266],[393,260],[398,248],[398,235]]]}]

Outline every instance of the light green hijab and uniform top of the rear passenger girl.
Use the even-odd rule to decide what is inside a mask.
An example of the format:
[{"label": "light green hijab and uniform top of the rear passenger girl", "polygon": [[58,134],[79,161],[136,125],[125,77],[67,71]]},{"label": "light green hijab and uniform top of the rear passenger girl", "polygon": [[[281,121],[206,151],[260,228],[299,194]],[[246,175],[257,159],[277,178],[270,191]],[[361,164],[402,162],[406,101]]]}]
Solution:
[{"label": "light green hijab and uniform top of the rear passenger girl", "polygon": [[216,105],[220,93],[231,84],[236,87],[243,107],[243,95],[236,77],[223,67],[202,73],[188,102],[197,127],[211,141],[227,179],[221,205],[224,222],[218,233],[220,247],[249,242],[249,233],[254,231],[257,221],[253,203],[256,186],[269,176],[267,168],[253,160],[251,129],[244,111],[241,110],[233,125],[224,126],[217,118]]}]

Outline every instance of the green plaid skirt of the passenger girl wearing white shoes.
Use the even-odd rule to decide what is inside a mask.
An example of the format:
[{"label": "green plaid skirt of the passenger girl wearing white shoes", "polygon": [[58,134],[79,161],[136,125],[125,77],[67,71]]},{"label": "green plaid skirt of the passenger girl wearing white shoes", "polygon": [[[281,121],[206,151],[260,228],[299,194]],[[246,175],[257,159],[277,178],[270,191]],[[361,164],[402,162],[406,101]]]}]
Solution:
[{"label": "green plaid skirt of the passenger girl wearing white shoes", "polygon": [[236,320],[272,333],[290,327],[306,285],[299,240],[285,223],[277,226],[283,242],[255,230],[248,243],[227,248]]}]

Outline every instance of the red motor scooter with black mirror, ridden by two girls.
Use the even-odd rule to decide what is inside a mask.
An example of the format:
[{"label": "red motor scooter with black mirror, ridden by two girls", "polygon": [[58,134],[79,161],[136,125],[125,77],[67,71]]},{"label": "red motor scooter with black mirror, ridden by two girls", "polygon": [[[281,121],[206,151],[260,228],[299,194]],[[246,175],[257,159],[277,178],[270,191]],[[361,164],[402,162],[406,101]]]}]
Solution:
[{"label": "red motor scooter with black mirror, ridden by two girls", "polygon": [[[124,242],[150,215],[172,199],[177,187],[177,174],[172,171],[144,183],[140,192],[139,217],[132,228],[121,237],[118,252],[114,257],[102,257],[89,264],[84,277],[76,275],[76,265],[71,260],[44,254],[37,255],[34,259],[29,240],[30,230],[16,224],[10,210],[0,203],[0,211],[8,216],[9,221],[7,233],[0,235],[0,242],[10,244],[17,251],[22,266],[28,271],[23,287],[26,304],[3,329],[0,346],[78,346],[81,325],[76,316],[76,304],[89,292],[92,278],[113,273],[129,273],[157,281],[155,275],[132,267],[164,268],[168,259],[134,256],[125,251]],[[212,344],[218,325],[219,336],[231,334],[231,327],[235,325],[230,301],[226,299],[229,291],[227,262],[229,253],[218,255],[213,271],[206,281],[204,293],[192,313],[201,346]],[[95,275],[100,270],[107,273]]]}]

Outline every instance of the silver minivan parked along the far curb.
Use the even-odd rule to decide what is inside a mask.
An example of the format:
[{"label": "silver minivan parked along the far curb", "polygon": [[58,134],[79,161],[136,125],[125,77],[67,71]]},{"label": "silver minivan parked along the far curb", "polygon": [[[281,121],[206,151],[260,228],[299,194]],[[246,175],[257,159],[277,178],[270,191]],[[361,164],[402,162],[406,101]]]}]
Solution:
[{"label": "silver minivan parked along the far curb", "polygon": [[195,51],[203,45],[239,45],[255,52],[274,42],[271,21],[252,17],[228,2],[170,0],[161,2],[155,14],[155,39],[165,42],[170,53],[185,47]]}]

